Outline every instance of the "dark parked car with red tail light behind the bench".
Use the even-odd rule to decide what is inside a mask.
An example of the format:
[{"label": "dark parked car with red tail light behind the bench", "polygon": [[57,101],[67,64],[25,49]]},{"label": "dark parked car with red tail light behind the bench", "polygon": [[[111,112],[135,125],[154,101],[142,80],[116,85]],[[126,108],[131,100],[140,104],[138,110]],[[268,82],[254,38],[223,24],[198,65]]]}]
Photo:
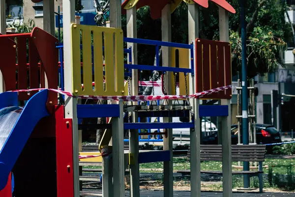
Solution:
[{"label": "dark parked car with red tail light behind the bench", "polygon": [[[240,134],[240,142],[242,143],[242,127]],[[237,125],[231,126],[232,144],[238,143]],[[203,137],[203,144],[218,144],[217,132]],[[257,144],[271,144],[282,142],[280,132],[273,125],[256,124],[256,143]]]}]

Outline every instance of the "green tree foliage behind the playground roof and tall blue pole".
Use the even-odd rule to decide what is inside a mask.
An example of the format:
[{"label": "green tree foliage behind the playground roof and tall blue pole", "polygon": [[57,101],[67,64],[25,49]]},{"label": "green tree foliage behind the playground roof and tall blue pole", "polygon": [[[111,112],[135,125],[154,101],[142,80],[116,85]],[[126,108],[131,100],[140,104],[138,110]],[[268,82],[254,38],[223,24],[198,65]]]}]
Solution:
[{"label": "green tree foliage behind the playground roof and tall blue pole", "polygon": [[[241,69],[240,9],[238,0],[228,0],[236,9],[229,14],[230,43],[232,44],[233,75]],[[246,35],[248,77],[272,72],[281,63],[280,53],[292,41],[290,24],[285,22],[286,4],[278,0],[247,0]],[[209,1],[209,8],[200,7],[199,36],[219,39],[218,7]],[[182,2],[172,13],[172,41],[188,43],[187,4]],[[126,16],[122,18],[126,32]],[[152,20],[149,7],[137,11],[139,38],[161,40],[161,20]],[[138,64],[152,65],[154,46],[138,45]],[[146,77],[147,78],[147,77]]]}]

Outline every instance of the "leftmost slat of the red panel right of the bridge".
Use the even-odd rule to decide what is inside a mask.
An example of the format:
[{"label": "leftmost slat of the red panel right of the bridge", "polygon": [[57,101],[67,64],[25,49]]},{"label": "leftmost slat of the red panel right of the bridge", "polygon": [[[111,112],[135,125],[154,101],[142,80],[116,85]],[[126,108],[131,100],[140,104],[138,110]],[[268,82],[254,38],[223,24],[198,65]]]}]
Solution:
[{"label": "leftmost slat of the red panel right of the bridge", "polygon": [[196,39],[196,91],[203,91],[203,59],[202,59],[202,43],[200,39]]}]

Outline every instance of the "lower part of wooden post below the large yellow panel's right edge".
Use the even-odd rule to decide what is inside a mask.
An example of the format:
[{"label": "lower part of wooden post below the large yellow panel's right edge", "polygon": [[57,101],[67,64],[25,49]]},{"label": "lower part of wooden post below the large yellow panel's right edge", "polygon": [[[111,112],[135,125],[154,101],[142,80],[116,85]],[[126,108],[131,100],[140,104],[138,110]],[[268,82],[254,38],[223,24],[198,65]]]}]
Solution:
[{"label": "lower part of wooden post below the large yellow panel's right edge", "polygon": [[113,194],[114,197],[125,196],[124,168],[124,122],[123,100],[119,100],[119,117],[112,121],[112,160],[113,160]]}]

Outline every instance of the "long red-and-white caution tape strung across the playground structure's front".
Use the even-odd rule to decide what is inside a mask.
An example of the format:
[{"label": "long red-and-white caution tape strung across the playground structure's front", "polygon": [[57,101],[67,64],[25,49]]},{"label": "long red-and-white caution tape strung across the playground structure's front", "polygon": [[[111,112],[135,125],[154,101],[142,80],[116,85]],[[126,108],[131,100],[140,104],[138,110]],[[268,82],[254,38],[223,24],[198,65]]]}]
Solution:
[{"label": "long red-and-white caution tape strung across the playground structure's front", "polygon": [[[207,90],[204,92],[196,93],[193,95],[189,95],[186,97],[185,95],[162,95],[162,96],[90,96],[90,95],[83,95],[83,96],[73,96],[69,92],[61,91],[61,90],[56,90],[56,89],[48,89],[50,91],[57,92],[59,94],[68,96],[68,97],[75,97],[75,98],[80,98],[80,99],[101,99],[101,100],[123,100],[123,101],[148,101],[148,100],[175,100],[175,99],[198,99],[202,98],[206,95],[211,95],[213,93],[217,92],[222,92],[227,89],[231,89],[231,85],[229,86],[223,86],[219,88],[214,88],[211,90]],[[36,88],[36,89],[29,89],[29,90],[13,90],[9,92],[31,92],[31,91],[39,91],[39,90],[45,90],[46,88]]]}]

